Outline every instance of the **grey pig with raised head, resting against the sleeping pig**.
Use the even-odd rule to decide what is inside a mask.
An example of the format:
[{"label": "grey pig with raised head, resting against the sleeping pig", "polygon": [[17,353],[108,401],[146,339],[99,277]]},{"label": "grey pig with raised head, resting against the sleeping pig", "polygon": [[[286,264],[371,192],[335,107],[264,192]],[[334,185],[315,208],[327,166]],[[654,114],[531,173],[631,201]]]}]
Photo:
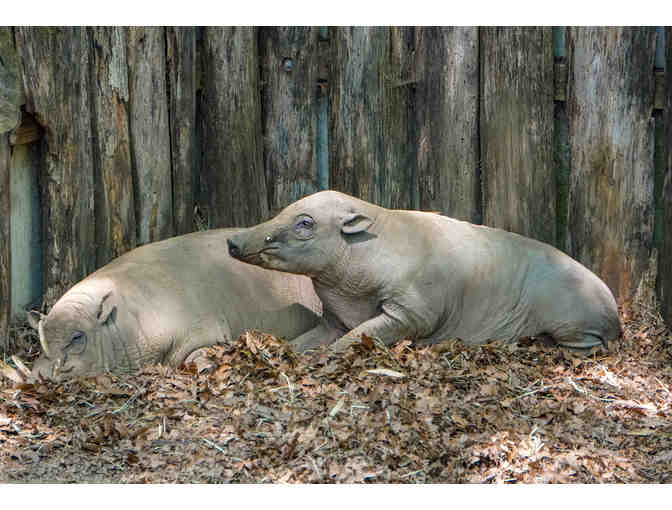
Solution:
[{"label": "grey pig with raised head, resting against the sleeping pig", "polygon": [[229,240],[251,264],[312,278],[324,320],[297,350],[362,333],[386,344],[468,344],[550,335],[588,348],[620,334],[614,297],[547,244],[433,213],[397,211],[335,191],[303,198]]}]

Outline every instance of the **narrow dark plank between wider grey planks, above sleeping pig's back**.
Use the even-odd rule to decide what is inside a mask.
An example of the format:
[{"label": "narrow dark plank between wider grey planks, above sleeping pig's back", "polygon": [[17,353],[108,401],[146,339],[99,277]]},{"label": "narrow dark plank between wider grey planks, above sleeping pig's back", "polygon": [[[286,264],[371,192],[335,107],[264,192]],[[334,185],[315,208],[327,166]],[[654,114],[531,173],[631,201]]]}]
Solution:
[{"label": "narrow dark plank between wider grey planks, above sleeping pig's back", "polygon": [[167,27],[170,153],[175,234],[194,230],[196,147],[196,27]]}]

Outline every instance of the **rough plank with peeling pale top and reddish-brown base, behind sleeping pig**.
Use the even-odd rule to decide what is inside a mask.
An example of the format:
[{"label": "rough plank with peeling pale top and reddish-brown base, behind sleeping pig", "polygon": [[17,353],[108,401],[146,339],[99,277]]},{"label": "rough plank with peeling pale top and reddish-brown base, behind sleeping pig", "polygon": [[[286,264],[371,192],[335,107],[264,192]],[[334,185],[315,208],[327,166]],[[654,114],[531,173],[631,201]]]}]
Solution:
[{"label": "rough plank with peeling pale top and reddish-brown base, behind sleeping pig", "polygon": [[96,267],[135,248],[128,65],[123,28],[91,29]]}]

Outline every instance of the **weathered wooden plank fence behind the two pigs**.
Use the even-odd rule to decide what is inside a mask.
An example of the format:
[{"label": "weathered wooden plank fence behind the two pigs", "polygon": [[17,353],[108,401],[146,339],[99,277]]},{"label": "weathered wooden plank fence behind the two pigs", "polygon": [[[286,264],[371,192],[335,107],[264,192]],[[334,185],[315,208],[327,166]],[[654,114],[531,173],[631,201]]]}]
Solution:
[{"label": "weathered wooden plank fence behind the two pigs", "polygon": [[672,322],[665,35],[0,28],[0,344],[137,245],[327,187],[555,244]]}]

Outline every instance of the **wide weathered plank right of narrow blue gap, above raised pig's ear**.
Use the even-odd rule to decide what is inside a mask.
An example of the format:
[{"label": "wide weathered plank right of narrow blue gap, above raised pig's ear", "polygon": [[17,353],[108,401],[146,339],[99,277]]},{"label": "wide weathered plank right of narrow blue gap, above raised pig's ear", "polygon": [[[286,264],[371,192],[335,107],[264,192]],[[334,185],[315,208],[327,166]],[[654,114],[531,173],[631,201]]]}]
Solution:
[{"label": "wide weathered plank right of narrow blue gap, above raised pig's ear", "polygon": [[329,187],[409,208],[415,150],[409,126],[413,29],[333,29]]}]

